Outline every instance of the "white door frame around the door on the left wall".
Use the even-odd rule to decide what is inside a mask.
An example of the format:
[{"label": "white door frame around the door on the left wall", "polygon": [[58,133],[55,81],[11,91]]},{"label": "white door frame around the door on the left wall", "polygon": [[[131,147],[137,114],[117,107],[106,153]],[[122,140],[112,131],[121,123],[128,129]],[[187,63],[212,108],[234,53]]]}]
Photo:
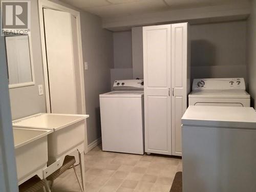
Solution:
[{"label": "white door frame around the door on the left wall", "polygon": [[[81,25],[80,25],[80,12],[74,9],[53,3],[49,0],[38,0],[38,13],[39,13],[39,25],[40,25],[40,35],[41,35],[41,51],[42,51],[42,66],[44,72],[44,82],[45,82],[45,94],[46,94],[46,110],[47,113],[51,112],[50,108],[50,93],[49,93],[49,80],[48,80],[48,68],[47,68],[47,54],[46,54],[46,41],[44,32],[44,16],[42,9],[48,8],[57,11],[65,11],[76,17],[76,31],[78,40],[78,65],[79,65],[79,76],[80,76],[80,90],[81,90],[81,106],[82,114],[86,114],[86,98],[84,91],[84,73],[83,73],[83,58],[82,58],[82,41],[81,41]],[[84,140],[84,153],[88,152],[88,142],[87,142],[87,123],[85,127],[85,140]]]}]

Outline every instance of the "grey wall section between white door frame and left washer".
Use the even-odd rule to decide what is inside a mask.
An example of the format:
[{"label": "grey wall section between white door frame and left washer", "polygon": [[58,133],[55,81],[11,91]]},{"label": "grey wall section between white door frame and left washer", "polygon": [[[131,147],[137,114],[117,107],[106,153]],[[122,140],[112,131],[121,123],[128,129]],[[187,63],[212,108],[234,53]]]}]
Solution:
[{"label": "grey wall section between white door frame and left washer", "polygon": [[99,94],[110,91],[110,69],[113,65],[112,32],[101,28],[98,16],[81,12],[83,60],[88,62],[85,71],[86,112],[88,143],[101,136]]}]

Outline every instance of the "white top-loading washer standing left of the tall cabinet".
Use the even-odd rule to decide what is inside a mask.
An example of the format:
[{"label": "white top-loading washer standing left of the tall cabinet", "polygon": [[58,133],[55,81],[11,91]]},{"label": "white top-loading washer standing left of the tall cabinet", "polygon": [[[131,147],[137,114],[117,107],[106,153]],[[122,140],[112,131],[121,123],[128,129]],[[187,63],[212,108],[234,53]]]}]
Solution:
[{"label": "white top-loading washer standing left of the tall cabinet", "polygon": [[116,80],[99,95],[102,150],[144,154],[143,80]]}]

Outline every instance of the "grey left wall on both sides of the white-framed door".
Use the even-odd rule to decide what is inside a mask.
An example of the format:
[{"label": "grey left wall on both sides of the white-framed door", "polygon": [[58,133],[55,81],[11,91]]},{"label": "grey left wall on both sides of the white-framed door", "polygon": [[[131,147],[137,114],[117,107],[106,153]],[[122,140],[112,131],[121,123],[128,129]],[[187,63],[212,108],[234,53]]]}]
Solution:
[{"label": "grey left wall on both sides of the white-framed door", "polygon": [[[53,2],[65,5],[58,1]],[[13,119],[46,112],[45,95],[39,96],[37,90],[38,84],[44,84],[37,1],[31,1],[31,12],[36,86],[10,89]],[[84,81],[86,111],[90,115],[87,120],[88,143],[91,143],[101,135],[99,94],[110,91],[110,69],[114,67],[113,34],[102,29],[101,18],[98,16],[81,11],[80,18],[83,61],[88,61],[89,65],[89,70],[85,71]]]}]

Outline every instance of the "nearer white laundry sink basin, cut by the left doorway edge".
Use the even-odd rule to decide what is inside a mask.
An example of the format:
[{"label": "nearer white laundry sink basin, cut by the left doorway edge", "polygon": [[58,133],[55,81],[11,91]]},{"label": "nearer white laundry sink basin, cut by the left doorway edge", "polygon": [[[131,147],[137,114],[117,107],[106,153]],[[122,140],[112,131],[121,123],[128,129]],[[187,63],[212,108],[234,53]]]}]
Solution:
[{"label": "nearer white laundry sink basin, cut by the left doorway edge", "polygon": [[34,175],[42,179],[42,169],[48,161],[47,135],[52,132],[13,127],[18,184]]}]

